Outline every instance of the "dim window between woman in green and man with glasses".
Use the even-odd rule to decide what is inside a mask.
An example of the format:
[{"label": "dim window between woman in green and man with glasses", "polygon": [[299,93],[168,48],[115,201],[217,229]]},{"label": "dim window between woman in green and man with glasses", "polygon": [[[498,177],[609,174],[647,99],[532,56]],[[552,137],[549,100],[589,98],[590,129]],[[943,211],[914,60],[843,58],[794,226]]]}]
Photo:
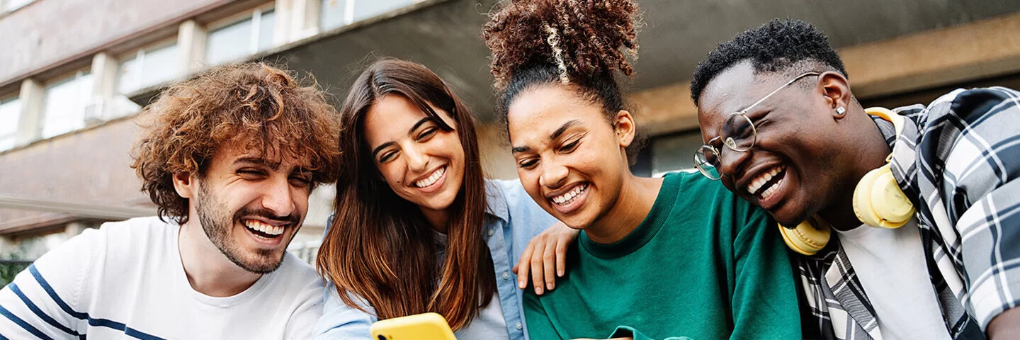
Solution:
[{"label": "dim window between woman in green and man with glasses", "polygon": [[652,177],[660,177],[695,166],[695,150],[705,144],[701,131],[685,131],[673,135],[652,138]]}]

